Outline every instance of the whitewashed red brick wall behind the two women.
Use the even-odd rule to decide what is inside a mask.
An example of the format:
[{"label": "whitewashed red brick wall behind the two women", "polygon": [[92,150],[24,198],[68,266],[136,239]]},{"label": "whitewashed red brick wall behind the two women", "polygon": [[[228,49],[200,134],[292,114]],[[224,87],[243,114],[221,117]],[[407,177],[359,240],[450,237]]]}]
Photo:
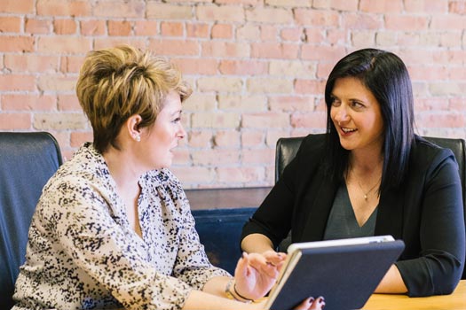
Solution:
[{"label": "whitewashed red brick wall behind the two women", "polygon": [[377,47],[407,64],[418,133],[466,138],[464,0],[1,0],[0,130],[91,139],[75,97],[88,50],[171,58],[194,87],[173,170],[186,188],[271,185],[275,142],[325,129],[329,70]]}]

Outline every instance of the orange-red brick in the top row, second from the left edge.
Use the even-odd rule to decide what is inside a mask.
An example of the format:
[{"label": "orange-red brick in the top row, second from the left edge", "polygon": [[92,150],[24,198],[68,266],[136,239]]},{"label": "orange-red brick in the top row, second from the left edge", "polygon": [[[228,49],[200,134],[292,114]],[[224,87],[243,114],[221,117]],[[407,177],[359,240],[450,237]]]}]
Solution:
[{"label": "orange-red brick in the top row, second from the left edge", "polygon": [[37,0],[37,15],[91,16],[91,2],[86,0]]}]

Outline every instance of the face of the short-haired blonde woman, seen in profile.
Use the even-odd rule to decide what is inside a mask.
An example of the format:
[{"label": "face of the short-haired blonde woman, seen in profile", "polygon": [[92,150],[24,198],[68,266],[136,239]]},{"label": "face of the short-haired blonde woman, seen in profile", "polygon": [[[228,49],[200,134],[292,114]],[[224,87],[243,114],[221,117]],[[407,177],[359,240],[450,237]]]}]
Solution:
[{"label": "face of the short-haired blonde woman, seen in profile", "polygon": [[180,139],[186,136],[181,124],[181,100],[179,94],[171,91],[165,98],[152,128],[147,128],[141,136],[145,151],[145,161],[152,169],[170,167],[173,161],[172,150],[178,146]]}]

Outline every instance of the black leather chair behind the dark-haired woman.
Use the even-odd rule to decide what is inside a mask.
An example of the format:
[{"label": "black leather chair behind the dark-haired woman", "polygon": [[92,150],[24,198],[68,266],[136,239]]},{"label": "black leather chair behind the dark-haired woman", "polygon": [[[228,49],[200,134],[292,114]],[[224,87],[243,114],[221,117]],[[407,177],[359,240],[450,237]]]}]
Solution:
[{"label": "black leather chair behind the dark-haired woman", "polygon": [[[314,137],[322,136],[325,134],[312,135]],[[458,162],[460,170],[460,178],[462,180],[462,205],[464,207],[464,221],[466,222],[466,143],[463,139],[440,138],[432,136],[424,136],[424,139],[435,143],[440,147],[447,148],[453,151],[454,157]],[[304,136],[280,138],[277,141],[277,148],[275,152],[275,182],[278,181],[283,169],[287,167],[289,162],[295,158],[299,146],[303,142]],[[280,244],[280,251],[286,250],[289,240],[284,240]],[[466,279],[466,268],[462,272],[462,279]]]}]

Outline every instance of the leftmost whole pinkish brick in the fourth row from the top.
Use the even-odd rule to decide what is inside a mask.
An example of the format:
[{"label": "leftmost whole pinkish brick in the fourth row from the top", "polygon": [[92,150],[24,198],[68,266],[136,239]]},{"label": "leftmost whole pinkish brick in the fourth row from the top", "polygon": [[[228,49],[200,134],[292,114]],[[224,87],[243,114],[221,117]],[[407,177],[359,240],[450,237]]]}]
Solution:
[{"label": "leftmost whole pinkish brick in the fourth row from the top", "polygon": [[12,72],[55,72],[59,68],[59,57],[42,56],[33,53],[5,54],[4,66]]}]

